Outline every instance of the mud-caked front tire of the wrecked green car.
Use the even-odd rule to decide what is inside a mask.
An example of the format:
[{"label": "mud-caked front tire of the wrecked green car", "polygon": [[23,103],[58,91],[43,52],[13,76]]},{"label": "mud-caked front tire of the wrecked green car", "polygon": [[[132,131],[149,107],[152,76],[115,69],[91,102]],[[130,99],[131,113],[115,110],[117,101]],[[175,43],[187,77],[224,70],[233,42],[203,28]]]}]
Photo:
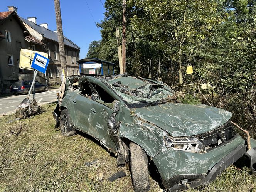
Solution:
[{"label": "mud-caked front tire of the wrecked green car", "polygon": [[135,192],[150,189],[147,154],[139,145],[130,143],[130,167]]}]

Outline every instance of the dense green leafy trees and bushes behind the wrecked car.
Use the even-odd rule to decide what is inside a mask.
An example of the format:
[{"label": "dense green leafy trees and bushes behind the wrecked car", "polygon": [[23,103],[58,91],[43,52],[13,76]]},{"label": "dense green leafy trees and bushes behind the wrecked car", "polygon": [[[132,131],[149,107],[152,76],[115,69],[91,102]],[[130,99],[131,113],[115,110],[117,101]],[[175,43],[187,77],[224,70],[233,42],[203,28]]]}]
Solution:
[{"label": "dense green leafy trees and bushes behind the wrecked car", "polygon": [[[127,0],[126,5],[127,72],[170,86],[181,75],[183,84],[210,83],[211,94],[204,94],[211,103],[230,110],[237,123],[246,122],[244,128],[256,126],[255,0]],[[115,27],[121,31],[122,1],[106,0],[105,7],[98,57],[118,63]],[[185,74],[186,66],[193,66],[194,74]]]}]

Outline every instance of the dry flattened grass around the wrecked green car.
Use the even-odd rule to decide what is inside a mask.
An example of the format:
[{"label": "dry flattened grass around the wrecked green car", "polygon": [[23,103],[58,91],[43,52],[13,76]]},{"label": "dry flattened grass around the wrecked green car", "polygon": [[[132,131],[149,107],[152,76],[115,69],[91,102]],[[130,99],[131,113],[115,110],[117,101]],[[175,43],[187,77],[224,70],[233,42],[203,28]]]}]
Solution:
[{"label": "dry flattened grass around the wrecked green car", "polygon": [[[88,136],[64,137],[54,130],[54,106],[46,105],[44,113],[9,124],[13,115],[0,118],[0,192],[133,191],[128,165],[118,167],[115,157]],[[95,159],[97,163],[86,167],[86,162]],[[110,182],[108,178],[120,170],[127,176]],[[203,191],[253,189],[256,177],[249,176],[248,169],[230,167]],[[151,179],[151,191],[159,190]]]}]

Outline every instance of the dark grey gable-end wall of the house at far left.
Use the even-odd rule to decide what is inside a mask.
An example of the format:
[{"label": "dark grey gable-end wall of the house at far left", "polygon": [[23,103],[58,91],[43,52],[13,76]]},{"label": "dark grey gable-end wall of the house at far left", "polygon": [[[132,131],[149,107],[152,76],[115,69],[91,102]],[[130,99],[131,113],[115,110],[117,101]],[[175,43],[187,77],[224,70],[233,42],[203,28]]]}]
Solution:
[{"label": "dark grey gable-end wall of the house at far left", "polygon": [[[10,17],[2,25],[0,25],[0,31],[5,35],[5,30],[10,31],[11,42],[7,42],[6,39],[0,40],[0,78],[2,79],[1,87],[3,84],[3,92],[8,93],[10,85],[18,80],[19,65],[18,59],[20,59],[20,48],[27,47],[27,41],[24,39],[24,33],[15,17]],[[20,43],[17,43],[20,42]],[[17,44],[18,46],[17,48]],[[8,65],[7,55],[12,55],[13,66]],[[1,80],[0,79],[0,80]],[[2,90],[2,88],[1,88]]]}]

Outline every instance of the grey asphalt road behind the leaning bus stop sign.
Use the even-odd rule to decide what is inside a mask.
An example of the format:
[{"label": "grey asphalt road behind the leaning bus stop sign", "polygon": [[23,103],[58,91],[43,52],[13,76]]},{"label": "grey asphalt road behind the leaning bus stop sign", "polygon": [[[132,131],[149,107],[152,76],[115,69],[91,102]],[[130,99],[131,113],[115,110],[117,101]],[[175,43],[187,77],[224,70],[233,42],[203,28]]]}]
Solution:
[{"label": "grey asphalt road behind the leaning bus stop sign", "polygon": [[[42,105],[46,103],[51,103],[57,101],[58,89],[51,89],[47,92],[35,93],[35,99],[37,104]],[[25,99],[27,94],[21,95],[11,95],[7,97],[0,97],[0,115],[9,114],[16,111],[16,107],[20,102]],[[33,94],[30,95],[30,98],[33,98]]]}]

